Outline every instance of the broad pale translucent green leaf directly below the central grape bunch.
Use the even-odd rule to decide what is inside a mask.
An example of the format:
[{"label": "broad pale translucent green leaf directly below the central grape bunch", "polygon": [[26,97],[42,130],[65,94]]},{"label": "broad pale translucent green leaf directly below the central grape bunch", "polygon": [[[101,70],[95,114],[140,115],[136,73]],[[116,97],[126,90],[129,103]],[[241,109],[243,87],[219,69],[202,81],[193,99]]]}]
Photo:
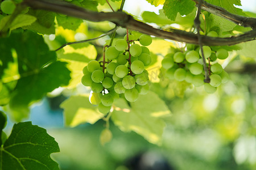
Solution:
[{"label": "broad pale translucent green leaf directly below the central grape bunch", "polygon": [[130,106],[125,99],[118,99],[114,106],[111,118],[119,129],[135,131],[148,142],[160,145],[166,126],[162,117],[170,116],[170,110],[158,95],[148,92],[147,95],[139,96],[139,99],[130,103]]}]

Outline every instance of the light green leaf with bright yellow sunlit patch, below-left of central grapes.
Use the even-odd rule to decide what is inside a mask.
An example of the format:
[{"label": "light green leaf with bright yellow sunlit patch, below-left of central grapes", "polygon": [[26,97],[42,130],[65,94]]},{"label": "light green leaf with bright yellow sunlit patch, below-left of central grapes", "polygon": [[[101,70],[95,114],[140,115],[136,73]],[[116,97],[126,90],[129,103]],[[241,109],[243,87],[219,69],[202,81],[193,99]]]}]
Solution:
[{"label": "light green leaf with bright yellow sunlit patch, below-left of central grapes", "polygon": [[88,96],[71,96],[60,107],[64,109],[65,125],[71,127],[84,123],[94,124],[104,117],[95,105],[90,104]]}]

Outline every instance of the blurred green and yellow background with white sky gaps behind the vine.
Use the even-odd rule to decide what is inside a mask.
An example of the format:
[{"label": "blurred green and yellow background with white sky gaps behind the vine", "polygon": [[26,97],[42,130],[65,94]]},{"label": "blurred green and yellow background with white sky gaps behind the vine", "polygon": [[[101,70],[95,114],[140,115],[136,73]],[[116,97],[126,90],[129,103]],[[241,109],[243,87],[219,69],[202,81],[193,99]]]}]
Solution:
[{"label": "blurred green and yellow background with white sky gaps behind the vine", "polygon": [[[256,1],[241,2],[243,10],[256,12]],[[134,7],[135,3],[138,6]],[[162,7],[137,0],[127,1],[124,10],[139,16],[143,11],[158,12],[159,8]],[[229,82],[210,95],[200,87],[180,90],[169,80],[151,84],[151,90],[172,112],[165,120],[167,126],[160,146],[148,143],[134,132],[123,133],[111,122],[113,139],[105,146],[100,144],[104,121],[65,127],[59,105],[73,91],[61,88],[32,105],[26,121],[46,128],[56,139],[60,152],[51,156],[63,170],[256,169],[255,57],[236,54],[225,70],[230,75]],[[82,88],[78,86],[76,93],[86,92]],[[9,120],[7,134],[12,126]]]}]

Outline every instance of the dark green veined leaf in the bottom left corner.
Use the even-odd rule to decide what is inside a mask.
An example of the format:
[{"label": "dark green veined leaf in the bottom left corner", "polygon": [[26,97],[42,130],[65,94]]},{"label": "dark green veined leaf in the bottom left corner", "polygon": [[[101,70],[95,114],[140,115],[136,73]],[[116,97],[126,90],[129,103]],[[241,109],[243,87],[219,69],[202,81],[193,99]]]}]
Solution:
[{"label": "dark green veined leaf in the bottom left corner", "polygon": [[50,154],[59,146],[46,129],[21,122],[13,126],[10,137],[0,149],[1,169],[59,169]]}]

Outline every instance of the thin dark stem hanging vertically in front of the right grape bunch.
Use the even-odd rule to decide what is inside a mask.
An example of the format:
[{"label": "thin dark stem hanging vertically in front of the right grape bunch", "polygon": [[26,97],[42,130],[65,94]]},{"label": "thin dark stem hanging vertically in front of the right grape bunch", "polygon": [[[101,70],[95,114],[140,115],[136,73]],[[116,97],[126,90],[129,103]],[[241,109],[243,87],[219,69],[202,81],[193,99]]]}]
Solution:
[{"label": "thin dark stem hanging vertically in front of the right grape bunch", "polygon": [[207,70],[207,65],[206,65],[206,61],[205,61],[205,57],[204,57],[204,50],[203,50],[203,44],[202,44],[202,39],[201,39],[201,35],[200,35],[200,13],[201,13],[201,5],[202,5],[202,0],[199,1],[199,4],[197,5],[197,14],[196,14],[196,18],[195,18],[195,26],[197,29],[197,39],[200,45],[200,50],[202,53],[202,58],[203,58],[203,63],[204,63],[204,73],[205,73],[205,79],[204,82],[205,83],[209,83],[210,82],[210,78],[209,78],[209,74],[208,74],[208,70]]}]

